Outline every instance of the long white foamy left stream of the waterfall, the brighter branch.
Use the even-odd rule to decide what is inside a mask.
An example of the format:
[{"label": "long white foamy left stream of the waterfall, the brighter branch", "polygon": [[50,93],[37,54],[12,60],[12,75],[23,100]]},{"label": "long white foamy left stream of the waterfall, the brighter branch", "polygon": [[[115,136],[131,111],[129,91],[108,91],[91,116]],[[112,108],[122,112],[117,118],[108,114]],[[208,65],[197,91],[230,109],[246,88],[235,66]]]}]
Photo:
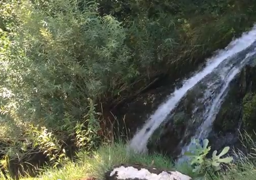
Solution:
[{"label": "long white foamy left stream of the waterfall, the brighter branch", "polygon": [[[142,129],[140,129],[131,140],[129,148],[138,153],[145,152],[147,150],[146,144],[148,139],[150,139],[154,131],[167,118],[170,112],[178,105],[188,90],[194,87],[207,75],[214,72],[222,62],[225,62],[225,60],[230,59],[232,56],[250,47],[254,41],[256,41],[256,26],[254,26],[250,32],[244,33],[242,37],[230,42],[225,50],[219,51],[217,56],[208,59],[208,63],[202,71],[185,80],[183,82],[183,86],[180,89],[176,89],[170,98],[168,98],[166,102],[162,103],[155,111],[155,113],[150,116]],[[237,71],[234,71],[233,76],[236,75],[235,72]]]}]

